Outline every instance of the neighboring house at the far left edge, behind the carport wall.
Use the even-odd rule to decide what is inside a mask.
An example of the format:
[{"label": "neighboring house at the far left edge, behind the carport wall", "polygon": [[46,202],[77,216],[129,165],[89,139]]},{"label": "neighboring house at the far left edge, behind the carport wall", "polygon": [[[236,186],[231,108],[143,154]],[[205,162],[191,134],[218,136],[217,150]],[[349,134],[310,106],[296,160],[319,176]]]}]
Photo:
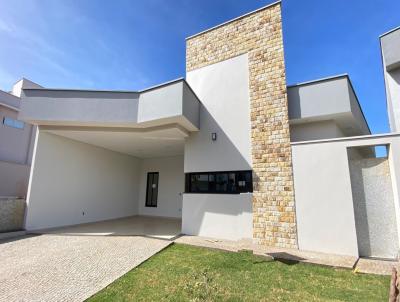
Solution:
[{"label": "neighboring house at the far left edge, behind the carport wall", "polygon": [[18,120],[21,89],[40,87],[22,79],[12,92],[0,90],[0,196],[25,197],[36,127]]}]

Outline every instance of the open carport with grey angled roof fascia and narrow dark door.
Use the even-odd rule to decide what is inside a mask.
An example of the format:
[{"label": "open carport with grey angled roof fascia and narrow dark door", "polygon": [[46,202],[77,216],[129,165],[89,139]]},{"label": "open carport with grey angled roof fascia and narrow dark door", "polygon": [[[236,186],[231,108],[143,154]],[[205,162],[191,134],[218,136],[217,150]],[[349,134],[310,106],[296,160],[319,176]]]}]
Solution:
[{"label": "open carport with grey angled roof fascia and narrow dark door", "polygon": [[19,118],[39,126],[25,228],[176,236],[199,106],[183,79],[140,92],[24,89]]}]

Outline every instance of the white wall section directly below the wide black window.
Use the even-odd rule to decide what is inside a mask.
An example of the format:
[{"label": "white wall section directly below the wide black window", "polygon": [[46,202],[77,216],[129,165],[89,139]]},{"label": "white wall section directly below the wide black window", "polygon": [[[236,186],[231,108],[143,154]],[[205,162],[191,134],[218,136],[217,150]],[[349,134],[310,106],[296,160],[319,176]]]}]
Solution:
[{"label": "white wall section directly below the wide black window", "polygon": [[182,233],[227,240],[253,238],[252,194],[184,194]]}]

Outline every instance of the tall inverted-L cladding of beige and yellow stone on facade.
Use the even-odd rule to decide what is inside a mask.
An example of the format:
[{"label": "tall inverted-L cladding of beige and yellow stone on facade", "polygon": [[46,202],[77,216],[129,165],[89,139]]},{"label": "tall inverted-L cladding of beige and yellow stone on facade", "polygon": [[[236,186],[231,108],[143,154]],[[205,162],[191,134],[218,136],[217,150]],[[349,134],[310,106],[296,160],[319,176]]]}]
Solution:
[{"label": "tall inverted-L cladding of beige and yellow stone on facade", "polygon": [[248,53],[253,162],[253,238],[297,248],[280,3],[186,41],[186,71]]}]

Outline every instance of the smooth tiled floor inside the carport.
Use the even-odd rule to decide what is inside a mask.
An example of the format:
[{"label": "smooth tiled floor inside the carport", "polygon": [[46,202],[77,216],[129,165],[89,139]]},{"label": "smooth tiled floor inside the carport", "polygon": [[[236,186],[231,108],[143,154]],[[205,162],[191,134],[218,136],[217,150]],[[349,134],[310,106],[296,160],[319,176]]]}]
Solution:
[{"label": "smooth tiled floor inside the carport", "polygon": [[173,239],[181,232],[181,220],[163,217],[131,216],[86,223],[37,233],[76,236],[146,236]]}]

